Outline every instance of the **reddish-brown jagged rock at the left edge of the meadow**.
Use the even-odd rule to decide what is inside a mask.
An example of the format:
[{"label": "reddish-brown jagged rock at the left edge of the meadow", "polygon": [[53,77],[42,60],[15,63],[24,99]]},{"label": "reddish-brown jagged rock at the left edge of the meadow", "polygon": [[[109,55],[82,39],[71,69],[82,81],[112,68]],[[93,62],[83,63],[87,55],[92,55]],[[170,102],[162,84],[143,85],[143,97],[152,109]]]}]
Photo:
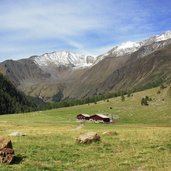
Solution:
[{"label": "reddish-brown jagged rock at the left edge of the meadow", "polygon": [[14,161],[14,150],[11,140],[0,138],[0,163],[11,164]]}]

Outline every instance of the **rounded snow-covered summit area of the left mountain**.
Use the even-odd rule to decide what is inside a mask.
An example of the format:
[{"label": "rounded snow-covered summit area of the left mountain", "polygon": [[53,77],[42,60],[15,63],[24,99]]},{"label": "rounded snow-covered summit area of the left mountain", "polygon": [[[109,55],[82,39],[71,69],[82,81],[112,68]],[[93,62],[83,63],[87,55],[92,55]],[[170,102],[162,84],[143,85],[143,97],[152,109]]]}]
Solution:
[{"label": "rounded snow-covered summit area of the left mountain", "polygon": [[47,67],[50,64],[56,66],[69,66],[73,68],[89,67],[93,65],[95,57],[80,55],[77,53],[62,51],[45,53],[34,57],[34,62],[40,67]]}]

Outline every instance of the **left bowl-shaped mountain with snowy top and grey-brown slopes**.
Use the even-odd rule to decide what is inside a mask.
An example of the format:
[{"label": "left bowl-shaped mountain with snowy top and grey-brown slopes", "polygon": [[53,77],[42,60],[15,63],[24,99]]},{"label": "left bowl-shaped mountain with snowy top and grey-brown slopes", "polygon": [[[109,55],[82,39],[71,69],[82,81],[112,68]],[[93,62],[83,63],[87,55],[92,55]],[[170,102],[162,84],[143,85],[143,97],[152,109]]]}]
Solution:
[{"label": "left bowl-shaped mountain with snowy top and grey-brown slopes", "polygon": [[72,84],[95,60],[71,52],[52,52],[4,61],[0,63],[0,71],[27,95],[47,101]]}]

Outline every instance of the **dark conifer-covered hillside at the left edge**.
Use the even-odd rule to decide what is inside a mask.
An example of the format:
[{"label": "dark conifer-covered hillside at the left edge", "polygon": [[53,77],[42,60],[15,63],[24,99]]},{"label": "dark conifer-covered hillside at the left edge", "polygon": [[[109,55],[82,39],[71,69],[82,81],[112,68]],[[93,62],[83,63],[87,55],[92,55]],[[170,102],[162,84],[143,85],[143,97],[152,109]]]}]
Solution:
[{"label": "dark conifer-covered hillside at the left edge", "polygon": [[0,74],[0,114],[28,112],[35,108],[23,93]]}]

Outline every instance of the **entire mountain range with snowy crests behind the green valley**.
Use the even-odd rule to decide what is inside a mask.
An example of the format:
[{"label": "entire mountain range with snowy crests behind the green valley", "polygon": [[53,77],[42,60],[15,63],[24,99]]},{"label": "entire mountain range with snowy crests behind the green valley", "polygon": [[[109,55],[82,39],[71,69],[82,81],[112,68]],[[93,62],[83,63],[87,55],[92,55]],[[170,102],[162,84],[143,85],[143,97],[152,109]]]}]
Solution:
[{"label": "entire mountain range with snowy crests behind the green valley", "polygon": [[171,31],[97,57],[63,51],[6,60],[0,71],[19,90],[44,101],[150,88],[171,81]]}]

